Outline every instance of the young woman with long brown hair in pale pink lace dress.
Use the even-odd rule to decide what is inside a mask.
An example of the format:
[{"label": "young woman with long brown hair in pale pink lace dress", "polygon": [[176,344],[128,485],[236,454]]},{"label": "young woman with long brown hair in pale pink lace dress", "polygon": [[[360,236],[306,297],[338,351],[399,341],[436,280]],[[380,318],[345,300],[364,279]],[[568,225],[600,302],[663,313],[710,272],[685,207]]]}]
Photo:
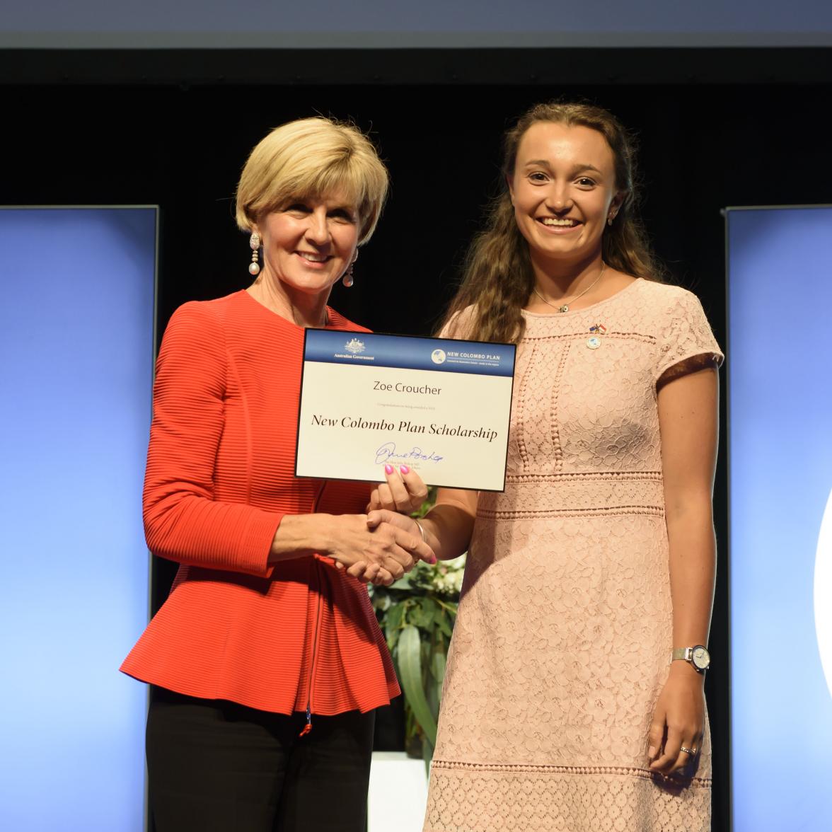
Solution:
[{"label": "young woman with long brown hair in pale pink lace dress", "polygon": [[722,355],[657,280],[614,116],[532,107],[503,179],[444,326],[518,359],[505,493],[422,521],[468,549],[424,829],[705,832]]}]

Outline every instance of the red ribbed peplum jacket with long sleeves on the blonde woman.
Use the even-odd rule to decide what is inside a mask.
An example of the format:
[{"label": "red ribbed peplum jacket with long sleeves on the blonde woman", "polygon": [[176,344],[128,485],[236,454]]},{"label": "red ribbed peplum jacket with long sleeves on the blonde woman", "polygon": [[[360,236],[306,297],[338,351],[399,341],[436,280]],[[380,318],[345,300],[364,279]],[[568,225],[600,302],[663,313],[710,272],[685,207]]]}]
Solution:
[{"label": "red ribbed peplum jacket with long sleeves on the blonde woman", "polygon": [[[329,310],[329,329],[364,331]],[[189,696],[326,716],[399,685],[367,589],[325,557],[269,567],[285,514],[363,513],[366,483],[295,478],[304,330],[247,292],[181,306],[156,364],[144,518],[179,572],[121,670]]]}]

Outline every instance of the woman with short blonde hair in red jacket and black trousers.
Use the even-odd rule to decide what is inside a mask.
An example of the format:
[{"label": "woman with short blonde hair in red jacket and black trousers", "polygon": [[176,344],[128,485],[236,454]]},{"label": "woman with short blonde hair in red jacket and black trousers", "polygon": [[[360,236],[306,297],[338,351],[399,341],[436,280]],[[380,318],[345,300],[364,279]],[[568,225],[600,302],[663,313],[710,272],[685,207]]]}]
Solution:
[{"label": "woman with short blonde hair in red jacket and black trousers", "polygon": [[[151,552],[180,567],[121,667],[159,686],[159,832],[364,830],[374,709],[399,694],[366,582],[433,552],[408,518],[368,527],[368,486],[295,478],[294,457],[304,328],[366,331],[327,299],[351,283],[387,186],[353,126],[271,131],[237,190],[254,283],[166,329],[144,518]],[[407,468],[387,479],[397,508],[425,492]]]}]

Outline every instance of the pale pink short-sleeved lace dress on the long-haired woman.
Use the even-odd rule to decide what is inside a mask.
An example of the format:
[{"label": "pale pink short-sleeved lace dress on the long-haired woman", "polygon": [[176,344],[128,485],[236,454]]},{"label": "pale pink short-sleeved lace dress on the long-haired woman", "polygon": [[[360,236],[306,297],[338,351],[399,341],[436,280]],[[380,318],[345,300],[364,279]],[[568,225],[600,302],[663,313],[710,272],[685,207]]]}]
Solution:
[{"label": "pale pink short-sleeved lace dress on the long-haired woman", "polygon": [[673,646],[656,380],[720,349],[695,295],[647,280],[526,322],[506,490],[479,496],[424,830],[706,832],[707,726],[682,785],[646,761]]}]

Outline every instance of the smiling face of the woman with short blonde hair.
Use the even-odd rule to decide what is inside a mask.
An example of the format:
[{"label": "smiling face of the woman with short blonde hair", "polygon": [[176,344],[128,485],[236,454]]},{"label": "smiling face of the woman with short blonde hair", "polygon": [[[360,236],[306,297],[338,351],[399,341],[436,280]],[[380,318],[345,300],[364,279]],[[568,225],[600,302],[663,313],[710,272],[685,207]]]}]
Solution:
[{"label": "smiling face of the woman with short blonde hair", "polygon": [[263,241],[263,272],[285,288],[318,295],[347,270],[359,239],[359,215],[339,193],[291,200],[253,226]]}]

